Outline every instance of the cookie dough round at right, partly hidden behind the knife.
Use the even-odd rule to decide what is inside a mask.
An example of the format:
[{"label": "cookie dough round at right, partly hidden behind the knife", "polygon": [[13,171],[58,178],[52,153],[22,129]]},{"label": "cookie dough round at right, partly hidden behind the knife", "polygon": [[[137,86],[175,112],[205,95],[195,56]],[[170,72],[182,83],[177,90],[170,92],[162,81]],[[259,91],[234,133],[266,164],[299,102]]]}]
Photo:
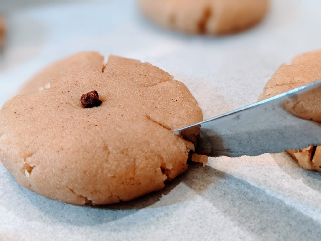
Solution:
[{"label": "cookie dough round at right, partly hidden behind the knife", "polygon": [[[283,64],[264,87],[259,99],[263,100],[288,90],[321,79],[321,50],[302,54],[293,59],[291,65]],[[289,111],[303,119],[321,121],[321,93],[310,98],[298,98]],[[321,172],[321,146],[310,146],[302,150],[287,150],[306,170]]]}]

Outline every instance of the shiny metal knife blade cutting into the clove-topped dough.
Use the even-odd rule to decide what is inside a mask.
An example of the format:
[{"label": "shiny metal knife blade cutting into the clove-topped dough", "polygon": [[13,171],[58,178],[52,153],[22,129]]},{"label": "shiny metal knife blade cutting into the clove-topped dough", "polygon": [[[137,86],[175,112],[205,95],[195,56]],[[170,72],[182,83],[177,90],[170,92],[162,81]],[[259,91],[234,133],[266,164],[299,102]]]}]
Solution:
[{"label": "shiny metal knife blade cutting into the clove-topped dough", "polygon": [[321,80],[173,132],[206,156],[258,156],[321,145],[320,123],[291,114],[291,106],[316,92]]}]

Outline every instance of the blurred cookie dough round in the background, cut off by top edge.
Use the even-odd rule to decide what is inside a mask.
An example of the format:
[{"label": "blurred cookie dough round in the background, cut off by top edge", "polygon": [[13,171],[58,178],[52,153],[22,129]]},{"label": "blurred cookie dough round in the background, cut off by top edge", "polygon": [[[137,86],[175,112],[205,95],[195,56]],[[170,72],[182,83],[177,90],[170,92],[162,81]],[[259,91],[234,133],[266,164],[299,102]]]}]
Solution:
[{"label": "blurred cookie dough round in the background, cut off by top edge", "polygon": [[163,27],[187,33],[229,34],[260,22],[268,0],[139,0],[143,13]]}]

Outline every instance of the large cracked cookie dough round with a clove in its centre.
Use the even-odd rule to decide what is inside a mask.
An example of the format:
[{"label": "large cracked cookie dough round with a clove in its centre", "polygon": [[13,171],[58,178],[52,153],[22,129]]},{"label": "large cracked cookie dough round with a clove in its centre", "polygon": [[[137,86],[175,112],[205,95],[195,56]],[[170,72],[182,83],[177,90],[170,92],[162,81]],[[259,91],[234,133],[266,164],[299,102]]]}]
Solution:
[{"label": "large cracked cookie dough round with a clove in its centre", "polygon": [[[148,63],[103,61],[94,52],[60,60],[4,104],[0,160],[23,187],[72,204],[116,203],[187,169],[194,146],[172,129],[203,117],[186,86]],[[89,92],[100,105],[83,107]]]}]

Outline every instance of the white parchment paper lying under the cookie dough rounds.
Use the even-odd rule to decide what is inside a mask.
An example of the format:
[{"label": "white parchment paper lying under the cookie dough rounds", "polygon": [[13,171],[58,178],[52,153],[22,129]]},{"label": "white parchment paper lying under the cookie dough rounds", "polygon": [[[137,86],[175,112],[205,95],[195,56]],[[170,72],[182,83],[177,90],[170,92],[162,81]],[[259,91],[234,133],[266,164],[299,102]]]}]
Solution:
[{"label": "white parchment paper lying under the cookie dough rounds", "polygon": [[[209,118],[256,102],[282,63],[321,47],[321,2],[273,1],[257,27],[226,37],[164,31],[133,0],[5,1],[0,106],[41,67],[82,50],[150,62],[184,82]],[[210,158],[160,192],[78,207],[18,186],[0,165],[0,240],[319,240],[321,174],[285,153]]]}]

